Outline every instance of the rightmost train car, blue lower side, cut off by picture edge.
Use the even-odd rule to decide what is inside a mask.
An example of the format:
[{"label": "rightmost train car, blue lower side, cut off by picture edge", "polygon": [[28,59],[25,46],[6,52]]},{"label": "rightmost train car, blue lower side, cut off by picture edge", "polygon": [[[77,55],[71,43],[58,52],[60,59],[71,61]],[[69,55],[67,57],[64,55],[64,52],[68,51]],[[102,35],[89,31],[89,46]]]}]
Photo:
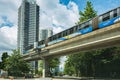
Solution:
[{"label": "rightmost train car, blue lower side, cut off by picture edge", "polygon": [[98,20],[99,28],[104,28],[120,21],[120,7],[100,15]]}]

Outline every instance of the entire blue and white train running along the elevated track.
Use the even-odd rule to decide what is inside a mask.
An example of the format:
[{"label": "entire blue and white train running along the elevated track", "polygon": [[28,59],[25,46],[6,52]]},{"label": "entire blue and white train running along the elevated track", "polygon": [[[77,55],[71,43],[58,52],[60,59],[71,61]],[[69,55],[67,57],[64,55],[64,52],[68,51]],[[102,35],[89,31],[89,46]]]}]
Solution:
[{"label": "entire blue and white train running along the elevated track", "polygon": [[78,35],[84,35],[94,30],[108,27],[117,22],[120,22],[120,7],[57,33],[46,40],[39,41],[37,48],[44,48]]}]

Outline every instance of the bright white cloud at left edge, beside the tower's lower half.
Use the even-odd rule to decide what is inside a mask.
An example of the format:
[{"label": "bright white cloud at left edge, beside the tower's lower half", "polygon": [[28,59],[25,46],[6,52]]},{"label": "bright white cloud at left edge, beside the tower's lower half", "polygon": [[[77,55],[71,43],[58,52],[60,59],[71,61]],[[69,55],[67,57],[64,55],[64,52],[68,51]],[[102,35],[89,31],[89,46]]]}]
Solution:
[{"label": "bright white cloud at left edge, beside the tower's lower half", "polygon": [[17,26],[0,28],[0,51],[15,49],[17,45]]}]

